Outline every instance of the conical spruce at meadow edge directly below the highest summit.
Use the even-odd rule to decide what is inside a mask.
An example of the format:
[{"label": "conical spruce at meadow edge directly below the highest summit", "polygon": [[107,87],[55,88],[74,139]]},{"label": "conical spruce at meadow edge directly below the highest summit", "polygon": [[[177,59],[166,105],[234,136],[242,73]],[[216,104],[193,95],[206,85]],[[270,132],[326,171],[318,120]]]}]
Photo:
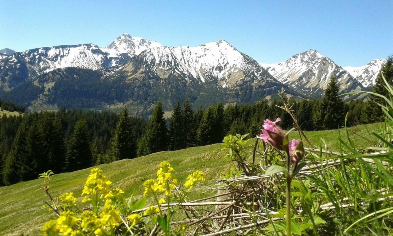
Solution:
[{"label": "conical spruce at meadow edge directly below the highest summit", "polygon": [[112,160],[132,159],[136,157],[136,141],[128,110],[125,107],[119,116],[112,140]]}]

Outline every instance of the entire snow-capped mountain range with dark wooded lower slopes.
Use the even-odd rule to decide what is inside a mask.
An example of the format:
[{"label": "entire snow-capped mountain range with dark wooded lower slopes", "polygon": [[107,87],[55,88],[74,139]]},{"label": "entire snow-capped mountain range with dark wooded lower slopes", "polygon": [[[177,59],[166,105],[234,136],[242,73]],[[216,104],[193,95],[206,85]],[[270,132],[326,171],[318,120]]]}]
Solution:
[{"label": "entire snow-capped mountain range with dark wooded lower slopes", "polygon": [[318,97],[336,74],[342,92],[373,85],[383,59],[341,67],[316,50],[277,64],[257,63],[221,40],[167,47],[127,33],[95,44],[0,51],[0,98],[32,110],[83,108],[143,112],[161,99],[190,98],[194,106],[253,102],[281,88],[290,96]]}]

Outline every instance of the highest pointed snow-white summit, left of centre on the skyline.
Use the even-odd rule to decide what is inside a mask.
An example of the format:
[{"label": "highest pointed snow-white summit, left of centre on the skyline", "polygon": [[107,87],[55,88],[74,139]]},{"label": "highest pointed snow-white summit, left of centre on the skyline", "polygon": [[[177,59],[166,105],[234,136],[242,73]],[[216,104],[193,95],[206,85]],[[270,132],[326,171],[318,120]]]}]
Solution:
[{"label": "highest pointed snow-white summit, left of centre on the skyline", "polygon": [[119,53],[129,53],[130,57],[139,55],[142,51],[152,48],[159,47],[162,44],[152,41],[149,39],[143,39],[140,37],[132,37],[128,33],[123,33],[119,37],[115,39],[111,44],[109,44],[106,48],[114,49]]}]

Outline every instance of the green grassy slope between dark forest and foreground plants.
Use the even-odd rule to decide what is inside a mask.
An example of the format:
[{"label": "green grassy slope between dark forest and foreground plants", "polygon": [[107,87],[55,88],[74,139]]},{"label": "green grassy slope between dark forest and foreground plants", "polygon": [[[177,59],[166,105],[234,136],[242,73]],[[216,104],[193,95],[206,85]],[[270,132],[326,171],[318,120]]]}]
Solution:
[{"label": "green grassy slope between dark forest and foreground plants", "polygon": [[[365,127],[369,130],[378,130],[376,124],[351,127],[351,130],[360,135],[368,136]],[[319,145],[322,137],[332,150],[337,150],[337,130],[306,132],[306,134],[313,144]],[[291,138],[296,138],[296,136],[298,136],[297,133],[294,133]],[[370,146],[369,142],[358,135],[351,134],[350,136],[358,145],[357,147]],[[250,148],[253,146],[253,142],[254,139],[249,141]],[[193,170],[203,170],[208,182],[193,191],[200,193],[209,187],[214,187],[216,185],[215,179],[228,166],[228,163],[222,160],[226,153],[220,151],[220,149],[221,144],[213,144],[179,151],[165,151],[137,159],[100,165],[99,168],[114,183],[114,186],[125,190],[125,195],[129,197],[134,189],[136,195],[140,195],[143,192],[141,187],[143,182],[154,177],[158,164],[166,160],[173,165],[176,174],[181,179],[185,179]],[[79,196],[89,170],[54,175],[52,178],[52,195],[74,192],[75,195]],[[42,180],[37,179],[0,188],[0,235],[40,234],[39,229],[42,223],[53,216],[53,213],[48,211],[42,203],[47,198],[40,189],[41,183]],[[213,194],[215,194],[215,191],[193,195],[191,198]]]}]

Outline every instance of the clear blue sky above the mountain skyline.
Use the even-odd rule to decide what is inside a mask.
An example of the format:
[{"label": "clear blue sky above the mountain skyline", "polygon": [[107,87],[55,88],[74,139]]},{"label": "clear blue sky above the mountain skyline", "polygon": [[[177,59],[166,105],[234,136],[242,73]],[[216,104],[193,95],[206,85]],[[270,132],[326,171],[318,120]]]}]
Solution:
[{"label": "clear blue sky above the mountain skyline", "polygon": [[393,0],[0,0],[0,48],[94,43],[122,33],[166,46],[225,39],[264,63],[316,49],[342,66],[393,53]]}]

